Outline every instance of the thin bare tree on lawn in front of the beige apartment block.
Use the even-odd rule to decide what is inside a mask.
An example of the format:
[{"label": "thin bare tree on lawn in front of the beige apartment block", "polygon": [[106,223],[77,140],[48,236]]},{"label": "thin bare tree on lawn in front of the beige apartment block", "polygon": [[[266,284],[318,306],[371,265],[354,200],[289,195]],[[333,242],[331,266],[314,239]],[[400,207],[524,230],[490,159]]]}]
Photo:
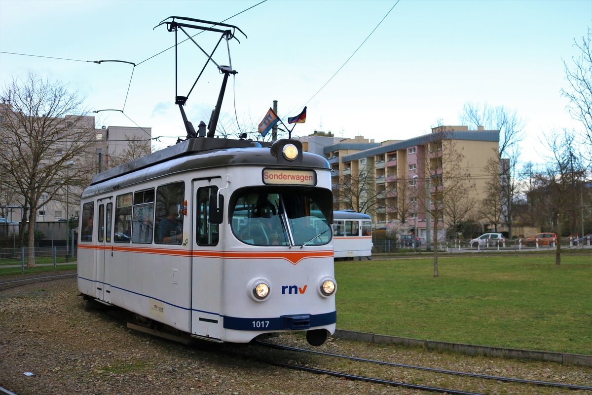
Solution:
[{"label": "thin bare tree on lawn in front of the beige apartment block", "polygon": [[[433,218],[434,237],[434,277],[438,277],[438,241],[440,223],[443,224],[446,211],[458,204],[458,191],[474,187],[468,163],[461,149],[451,139],[452,132],[446,127],[432,129],[426,138],[423,152],[418,152],[418,171],[423,185],[417,184],[416,197],[419,207]],[[430,222],[427,222],[427,226]]]}]

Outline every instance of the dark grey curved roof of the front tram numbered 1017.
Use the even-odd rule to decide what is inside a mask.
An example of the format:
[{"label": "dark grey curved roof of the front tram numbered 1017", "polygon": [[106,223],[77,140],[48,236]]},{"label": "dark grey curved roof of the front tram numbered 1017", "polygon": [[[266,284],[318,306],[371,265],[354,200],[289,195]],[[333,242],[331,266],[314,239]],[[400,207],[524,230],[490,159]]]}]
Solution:
[{"label": "dark grey curved roof of the front tram numbered 1017", "polygon": [[[330,169],[329,162],[322,156],[303,152],[302,143],[297,140],[278,140],[275,143],[294,143],[301,155],[289,162],[277,155],[268,142],[249,140],[214,139],[199,137],[166,147],[165,149],[132,160],[94,176],[91,186],[83,195],[94,194],[110,187],[123,187],[146,179],[173,173],[210,169],[226,166],[289,166],[295,168]],[[279,145],[279,144],[278,144]],[[127,175],[126,178],[118,178]],[[118,178],[115,180],[115,178]],[[113,180],[111,182],[107,182]],[[99,187],[102,185],[102,187]],[[95,187],[93,187],[95,186]],[[110,187],[107,187],[109,189]]]}]

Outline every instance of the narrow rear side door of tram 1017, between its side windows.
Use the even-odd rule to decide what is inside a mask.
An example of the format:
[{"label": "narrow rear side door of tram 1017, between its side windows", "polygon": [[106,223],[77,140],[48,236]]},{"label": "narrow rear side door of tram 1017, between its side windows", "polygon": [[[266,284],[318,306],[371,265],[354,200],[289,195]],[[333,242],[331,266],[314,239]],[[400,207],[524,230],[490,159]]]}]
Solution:
[{"label": "narrow rear side door of tram 1017, between its side windows", "polygon": [[106,302],[111,301],[111,285],[109,268],[111,264],[112,235],[111,223],[113,217],[112,198],[98,201],[98,236],[96,246],[96,298]]}]

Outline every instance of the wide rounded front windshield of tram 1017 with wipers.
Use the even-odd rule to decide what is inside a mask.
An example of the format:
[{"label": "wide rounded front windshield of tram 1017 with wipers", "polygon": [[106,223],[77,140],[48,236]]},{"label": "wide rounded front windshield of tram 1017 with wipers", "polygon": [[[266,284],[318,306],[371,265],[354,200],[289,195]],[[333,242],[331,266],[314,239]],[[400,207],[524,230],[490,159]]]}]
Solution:
[{"label": "wide rounded front windshield of tram 1017 with wipers", "polygon": [[332,194],[318,188],[244,188],[230,202],[232,231],[258,246],[312,246],[329,243]]}]

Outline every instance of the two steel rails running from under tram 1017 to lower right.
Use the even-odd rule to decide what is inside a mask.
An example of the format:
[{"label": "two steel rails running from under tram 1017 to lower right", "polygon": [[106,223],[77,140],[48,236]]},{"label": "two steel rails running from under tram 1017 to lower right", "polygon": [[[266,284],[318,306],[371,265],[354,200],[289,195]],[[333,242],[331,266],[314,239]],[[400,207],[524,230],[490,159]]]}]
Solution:
[{"label": "two steel rails running from under tram 1017 to lower right", "polygon": [[[269,343],[264,341],[257,341],[257,343],[261,346],[273,349],[281,349],[285,351],[294,351],[299,353],[305,354],[315,354],[315,355],[323,355],[324,357],[333,357],[339,359],[348,359],[350,361],[356,362],[367,362],[369,364],[377,364],[377,365],[384,365],[390,367],[398,367],[398,368],[407,368],[412,370],[422,370],[422,371],[429,371],[435,372],[438,374],[446,374],[446,375],[455,375],[461,377],[472,377],[472,378],[480,378],[482,380],[494,380],[498,382],[504,383],[522,383],[522,384],[530,384],[532,386],[543,386],[543,387],[559,387],[559,388],[566,388],[569,390],[585,390],[585,391],[592,391],[592,387],[590,386],[580,386],[577,384],[565,384],[565,383],[553,383],[551,381],[540,381],[540,380],[526,380],[522,378],[512,378],[512,377],[501,377],[495,375],[485,375],[485,374],[477,374],[477,373],[470,373],[470,372],[461,372],[461,371],[451,371],[451,370],[444,370],[444,369],[437,369],[437,368],[429,368],[429,367],[421,367],[415,365],[406,365],[406,364],[397,364],[394,362],[385,362],[385,361],[376,361],[374,359],[366,359],[366,358],[358,358],[358,357],[349,357],[347,355],[340,355],[340,354],[332,354],[330,352],[323,352],[323,351],[316,351],[311,349],[305,348],[298,348],[293,346],[286,346],[286,345],[279,345],[275,343]],[[424,391],[432,391],[437,393],[449,393],[449,394],[475,394],[473,392],[466,392],[461,390],[453,390],[449,388],[437,388],[437,387],[430,387],[430,386],[419,386],[416,384],[409,384],[409,383],[400,383],[398,381],[391,381],[391,380],[382,380],[379,378],[369,378],[369,377],[362,377],[359,375],[352,375],[346,373],[339,373],[327,370],[321,370],[317,368],[305,367],[303,365],[295,365],[295,364],[287,364],[284,362],[272,362],[269,363],[274,365],[279,365],[287,368],[297,369],[297,370],[305,370],[317,374],[328,374],[335,377],[344,377],[350,380],[363,380],[369,381],[372,383],[382,383],[382,384],[389,384],[391,386],[398,386],[398,387],[405,387],[405,388],[413,388],[419,389]]]}]

